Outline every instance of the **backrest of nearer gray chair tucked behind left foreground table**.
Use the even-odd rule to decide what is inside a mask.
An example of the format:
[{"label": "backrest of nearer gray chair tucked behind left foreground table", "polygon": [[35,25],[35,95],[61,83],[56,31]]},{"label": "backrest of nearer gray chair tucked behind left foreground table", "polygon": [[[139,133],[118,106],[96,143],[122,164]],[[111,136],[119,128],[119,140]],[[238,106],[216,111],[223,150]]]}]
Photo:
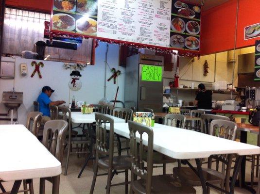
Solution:
[{"label": "backrest of nearer gray chair tucked behind left foreground table", "polygon": [[68,122],[64,120],[47,121],[43,129],[42,144],[62,163]]}]

